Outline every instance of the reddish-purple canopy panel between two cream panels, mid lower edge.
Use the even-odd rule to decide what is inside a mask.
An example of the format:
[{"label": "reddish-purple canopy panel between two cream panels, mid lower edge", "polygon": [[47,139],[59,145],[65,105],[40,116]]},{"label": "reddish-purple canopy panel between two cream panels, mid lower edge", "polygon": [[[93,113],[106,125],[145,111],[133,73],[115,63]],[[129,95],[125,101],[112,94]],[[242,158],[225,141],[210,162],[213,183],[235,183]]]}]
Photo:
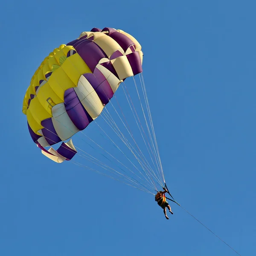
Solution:
[{"label": "reddish-purple canopy panel between two cream panels, mid lower edge", "polygon": [[97,68],[94,74],[86,73],[83,76],[89,81],[102,103],[106,105],[113,97],[113,91],[105,76]]}]

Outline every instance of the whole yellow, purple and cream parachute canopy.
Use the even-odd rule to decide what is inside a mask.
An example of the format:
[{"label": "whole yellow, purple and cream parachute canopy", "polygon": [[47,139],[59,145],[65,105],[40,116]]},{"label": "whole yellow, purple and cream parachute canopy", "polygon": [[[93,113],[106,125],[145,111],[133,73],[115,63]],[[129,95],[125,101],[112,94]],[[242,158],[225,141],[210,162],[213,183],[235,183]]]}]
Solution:
[{"label": "whole yellow, purple and cream parachute canopy", "polygon": [[[93,122],[119,84],[142,72],[143,52],[128,33],[113,28],[82,32],[49,53],[35,71],[23,100],[32,140],[51,160],[76,154],[70,139]],[[61,141],[58,150],[49,147]]]}]

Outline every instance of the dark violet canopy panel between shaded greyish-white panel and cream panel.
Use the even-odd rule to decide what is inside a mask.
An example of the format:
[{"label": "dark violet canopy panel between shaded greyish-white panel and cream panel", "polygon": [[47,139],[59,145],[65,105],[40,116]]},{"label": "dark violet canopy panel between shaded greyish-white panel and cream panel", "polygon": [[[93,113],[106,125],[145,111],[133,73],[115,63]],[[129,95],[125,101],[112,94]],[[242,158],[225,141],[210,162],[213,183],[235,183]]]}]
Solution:
[{"label": "dark violet canopy panel between shaded greyish-white panel and cream panel", "polygon": [[74,88],[65,91],[64,102],[68,116],[79,131],[84,130],[84,128],[93,121],[89,113],[81,104]]}]

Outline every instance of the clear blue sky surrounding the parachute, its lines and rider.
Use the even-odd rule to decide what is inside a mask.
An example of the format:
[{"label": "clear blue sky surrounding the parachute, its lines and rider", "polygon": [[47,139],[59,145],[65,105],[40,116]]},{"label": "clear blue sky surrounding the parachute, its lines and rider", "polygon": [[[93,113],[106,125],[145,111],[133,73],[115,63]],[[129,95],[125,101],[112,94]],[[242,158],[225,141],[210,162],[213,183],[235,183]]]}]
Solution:
[{"label": "clear blue sky surrounding the parachute, its lines and rider", "polygon": [[255,8],[249,0],[2,3],[0,254],[236,255],[177,205],[166,221],[154,196],[54,164],[32,142],[22,101],[38,65],[106,26],[142,45],[169,190],[241,255],[256,254]]}]

